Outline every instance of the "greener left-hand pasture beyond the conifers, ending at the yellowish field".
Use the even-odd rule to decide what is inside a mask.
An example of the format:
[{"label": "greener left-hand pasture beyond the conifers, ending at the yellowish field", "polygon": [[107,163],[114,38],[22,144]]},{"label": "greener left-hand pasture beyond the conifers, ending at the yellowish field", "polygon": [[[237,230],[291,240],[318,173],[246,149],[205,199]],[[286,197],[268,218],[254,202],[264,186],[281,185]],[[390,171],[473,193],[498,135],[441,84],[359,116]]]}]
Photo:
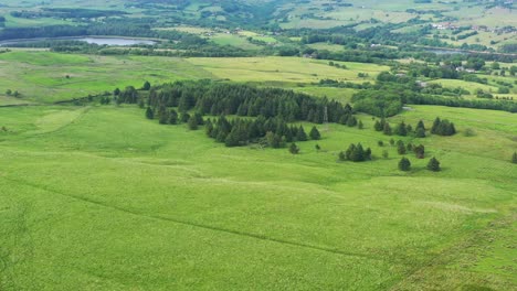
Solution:
[{"label": "greener left-hand pasture beyond the conifers, ending at the yellowish field", "polygon": [[15,51],[0,54],[0,91],[18,90],[22,98],[53,103],[86,97],[144,80],[209,78],[211,74],[172,57],[92,56]]}]

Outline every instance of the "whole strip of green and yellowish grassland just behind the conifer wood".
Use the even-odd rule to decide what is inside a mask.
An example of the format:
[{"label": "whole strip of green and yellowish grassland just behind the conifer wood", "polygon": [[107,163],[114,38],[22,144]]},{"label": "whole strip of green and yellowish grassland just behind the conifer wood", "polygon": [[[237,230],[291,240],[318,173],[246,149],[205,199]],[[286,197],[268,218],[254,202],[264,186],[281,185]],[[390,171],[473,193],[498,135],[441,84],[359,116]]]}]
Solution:
[{"label": "whole strip of green and yellowish grassland just behind the conifer wood", "polygon": [[[125,86],[141,86],[177,79],[217,78],[238,82],[315,83],[323,78],[373,82],[387,66],[299,57],[176,58],[140,56],[94,56],[50,52],[14,51],[0,54],[0,96],[18,90],[21,100],[54,103],[86,97]],[[369,77],[359,78],[358,73]],[[325,89],[321,89],[325,90]]]}]

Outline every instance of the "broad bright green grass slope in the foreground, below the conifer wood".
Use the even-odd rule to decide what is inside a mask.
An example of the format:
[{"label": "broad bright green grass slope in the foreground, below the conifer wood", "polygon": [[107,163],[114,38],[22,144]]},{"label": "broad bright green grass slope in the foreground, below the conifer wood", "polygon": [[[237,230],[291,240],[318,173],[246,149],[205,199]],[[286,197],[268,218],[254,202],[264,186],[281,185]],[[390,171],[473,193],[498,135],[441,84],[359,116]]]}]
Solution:
[{"label": "broad bright green grass slope in the foreground, below the conifer wood", "polygon": [[[402,173],[369,116],[292,155],[136,107],[0,111],[2,290],[516,287],[515,115],[413,107],[390,121],[440,115],[476,136],[414,140],[444,171],[409,155]],[[336,162],[351,142],[374,160]]]}]

